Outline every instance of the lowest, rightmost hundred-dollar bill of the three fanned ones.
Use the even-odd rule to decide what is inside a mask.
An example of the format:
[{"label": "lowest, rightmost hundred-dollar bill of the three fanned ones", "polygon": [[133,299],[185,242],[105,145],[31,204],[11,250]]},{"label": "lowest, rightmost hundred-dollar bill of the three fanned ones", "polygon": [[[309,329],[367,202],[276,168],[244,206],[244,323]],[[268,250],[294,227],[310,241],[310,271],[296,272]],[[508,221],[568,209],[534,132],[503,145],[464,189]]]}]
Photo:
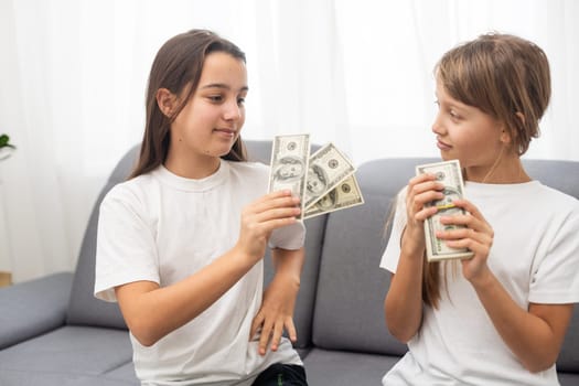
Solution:
[{"label": "lowest, rightmost hundred-dollar bill of the three fanned ones", "polygon": [[364,204],[364,197],[360,191],[356,178],[352,174],[324,194],[312,206],[308,207],[303,218],[310,218],[361,204]]}]

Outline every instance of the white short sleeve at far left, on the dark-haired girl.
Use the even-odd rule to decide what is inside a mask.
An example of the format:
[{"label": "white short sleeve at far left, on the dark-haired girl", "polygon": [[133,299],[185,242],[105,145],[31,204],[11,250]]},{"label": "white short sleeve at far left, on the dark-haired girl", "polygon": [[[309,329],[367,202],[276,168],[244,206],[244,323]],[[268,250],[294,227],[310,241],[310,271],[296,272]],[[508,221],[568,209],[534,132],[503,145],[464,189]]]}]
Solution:
[{"label": "white short sleeve at far left, on the dark-haired girl", "polygon": [[139,210],[139,197],[124,184],[103,200],[98,219],[95,297],[116,301],[115,287],[147,280],[159,283],[154,237]]}]

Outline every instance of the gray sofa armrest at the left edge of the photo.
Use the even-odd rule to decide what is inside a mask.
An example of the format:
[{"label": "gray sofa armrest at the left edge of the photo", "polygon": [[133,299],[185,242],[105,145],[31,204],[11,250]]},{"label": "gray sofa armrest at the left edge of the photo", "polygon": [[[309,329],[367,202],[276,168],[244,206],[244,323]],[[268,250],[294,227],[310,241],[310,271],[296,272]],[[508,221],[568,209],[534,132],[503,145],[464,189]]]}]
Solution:
[{"label": "gray sofa armrest at the left edge of the photo", "polygon": [[64,324],[72,272],[0,289],[0,350]]}]

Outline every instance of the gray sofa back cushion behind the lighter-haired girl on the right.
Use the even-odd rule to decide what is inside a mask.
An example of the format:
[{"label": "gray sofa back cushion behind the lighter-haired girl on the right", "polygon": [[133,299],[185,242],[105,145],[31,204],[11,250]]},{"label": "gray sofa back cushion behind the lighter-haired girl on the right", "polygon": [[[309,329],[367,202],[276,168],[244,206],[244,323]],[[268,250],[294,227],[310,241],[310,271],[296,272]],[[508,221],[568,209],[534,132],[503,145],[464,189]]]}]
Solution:
[{"label": "gray sofa back cushion behind the lighter-haired girl on the right", "polygon": [[[403,354],[407,349],[386,329],[384,297],[389,274],[379,268],[389,229],[384,230],[398,191],[415,165],[437,159],[379,159],[360,165],[356,176],[365,204],[331,213],[322,249],[312,340],[329,350]],[[579,197],[579,162],[524,161],[544,184]],[[579,372],[579,307],[557,362]]]}]

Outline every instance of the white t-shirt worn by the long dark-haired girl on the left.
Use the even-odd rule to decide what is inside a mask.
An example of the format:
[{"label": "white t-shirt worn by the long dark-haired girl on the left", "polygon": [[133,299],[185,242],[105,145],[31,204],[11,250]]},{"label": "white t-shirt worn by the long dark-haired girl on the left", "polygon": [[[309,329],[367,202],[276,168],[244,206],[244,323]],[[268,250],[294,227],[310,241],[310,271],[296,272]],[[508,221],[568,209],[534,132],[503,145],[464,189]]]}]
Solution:
[{"label": "white t-shirt worn by the long dark-haired girl on the left", "polygon": [[[103,200],[98,222],[95,296],[116,301],[114,288],[138,280],[173,285],[208,265],[237,242],[242,208],[264,195],[269,168],[221,162],[202,180],[159,167],[116,185]],[[272,233],[271,247],[303,246],[302,224]],[[250,385],[274,363],[302,364],[283,339],[277,352],[258,354],[249,341],[261,304],[264,262],[197,318],[154,345],[132,335],[133,363],[142,385]]]}]

